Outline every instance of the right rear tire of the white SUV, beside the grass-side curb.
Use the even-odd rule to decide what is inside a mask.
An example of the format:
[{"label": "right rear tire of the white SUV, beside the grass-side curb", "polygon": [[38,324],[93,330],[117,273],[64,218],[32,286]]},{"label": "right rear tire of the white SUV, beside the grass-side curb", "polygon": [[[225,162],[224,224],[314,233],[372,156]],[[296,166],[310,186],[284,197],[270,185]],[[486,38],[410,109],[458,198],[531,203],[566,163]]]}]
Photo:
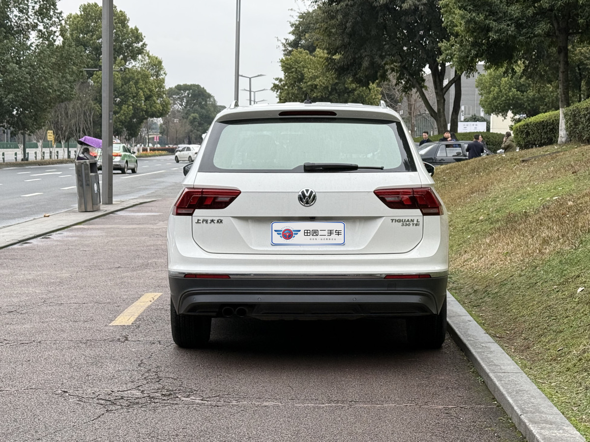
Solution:
[{"label": "right rear tire of the white SUV, beside the grass-side curb", "polygon": [[412,347],[441,348],[447,336],[447,298],[438,315],[407,318],[406,333]]}]

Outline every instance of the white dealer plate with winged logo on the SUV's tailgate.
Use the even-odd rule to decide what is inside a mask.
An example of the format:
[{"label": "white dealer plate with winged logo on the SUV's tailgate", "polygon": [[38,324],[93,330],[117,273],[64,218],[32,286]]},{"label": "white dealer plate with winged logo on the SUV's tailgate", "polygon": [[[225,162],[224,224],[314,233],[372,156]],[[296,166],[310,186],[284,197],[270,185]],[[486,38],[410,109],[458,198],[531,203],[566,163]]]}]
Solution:
[{"label": "white dealer plate with winged logo on the SUV's tailgate", "polygon": [[273,246],[342,246],[345,225],[341,221],[273,222],[270,225]]}]

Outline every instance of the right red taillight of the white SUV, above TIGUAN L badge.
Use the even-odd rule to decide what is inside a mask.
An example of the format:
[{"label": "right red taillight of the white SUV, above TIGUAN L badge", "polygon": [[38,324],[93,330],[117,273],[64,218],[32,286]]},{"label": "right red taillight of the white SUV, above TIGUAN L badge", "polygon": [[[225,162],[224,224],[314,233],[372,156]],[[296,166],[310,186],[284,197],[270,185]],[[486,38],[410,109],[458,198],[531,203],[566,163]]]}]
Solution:
[{"label": "right red taillight of the white SUV, above TIGUAN L badge", "polygon": [[420,209],[422,215],[442,215],[442,205],[430,187],[378,189],[373,192],[389,209]]}]

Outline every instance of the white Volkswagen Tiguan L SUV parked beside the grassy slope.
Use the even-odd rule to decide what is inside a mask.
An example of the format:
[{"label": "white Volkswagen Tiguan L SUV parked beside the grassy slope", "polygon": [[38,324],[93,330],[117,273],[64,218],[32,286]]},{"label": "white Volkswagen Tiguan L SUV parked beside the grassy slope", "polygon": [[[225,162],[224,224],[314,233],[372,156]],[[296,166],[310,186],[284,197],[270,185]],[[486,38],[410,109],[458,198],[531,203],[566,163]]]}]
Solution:
[{"label": "white Volkswagen Tiguan L SUV parked beside the grassy slope", "polygon": [[385,104],[232,106],[215,118],[168,222],[174,342],[211,318],[403,316],[438,348],[448,219]]}]

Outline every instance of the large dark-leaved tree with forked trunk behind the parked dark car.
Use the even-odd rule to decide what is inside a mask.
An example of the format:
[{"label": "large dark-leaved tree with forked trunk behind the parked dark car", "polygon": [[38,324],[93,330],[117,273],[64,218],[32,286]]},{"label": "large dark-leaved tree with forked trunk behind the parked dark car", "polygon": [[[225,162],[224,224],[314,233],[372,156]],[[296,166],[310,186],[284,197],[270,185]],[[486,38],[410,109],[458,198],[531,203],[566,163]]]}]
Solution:
[{"label": "large dark-leaved tree with forked trunk behind the parked dark car", "polygon": [[[451,130],[457,131],[461,75],[475,64],[447,74],[440,43],[448,39],[438,0],[315,0],[322,9],[321,47],[332,55],[332,67],[360,85],[396,74],[405,92],[418,91],[438,131],[447,130],[445,94],[455,86]],[[425,93],[425,69],[432,77],[435,104]]]}]

